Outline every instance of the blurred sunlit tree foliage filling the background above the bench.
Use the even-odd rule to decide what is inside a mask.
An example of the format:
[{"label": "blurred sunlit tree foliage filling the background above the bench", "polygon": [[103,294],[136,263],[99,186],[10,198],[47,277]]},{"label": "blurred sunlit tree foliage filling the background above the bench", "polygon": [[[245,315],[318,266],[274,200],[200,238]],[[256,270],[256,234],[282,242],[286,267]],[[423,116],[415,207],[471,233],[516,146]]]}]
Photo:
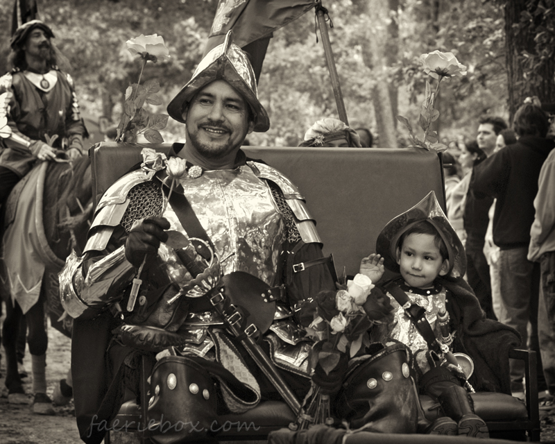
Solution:
[{"label": "blurred sunlit tree foliage filling the background above the bench", "polygon": [[[506,115],[507,85],[504,55],[503,7],[508,0],[399,0],[391,10],[398,25],[392,39],[398,48],[397,62],[388,68],[387,78],[399,91],[399,114],[417,121],[415,104],[425,99],[425,74],[418,55],[438,49],[452,52],[468,65],[460,82],[443,83],[436,97],[441,116],[432,127],[438,138],[474,137],[477,117],[484,112]],[[554,0],[535,0],[544,7],[523,15],[518,26],[536,35],[536,49],[523,54],[527,72],[542,60],[552,58]],[[119,121],[124,112],[123,92],[129,79],[139,76],[140,67],[128,53],[130,35],[163,33],[171,59],[148,64],[142,78],[160,82],[162,104],[151,105],[155,113],[191,78],[200,60],[212,24],[217,0],[57,0],[40,1],[42,18],[56,35],[53,41],[71,62],[81,109],[96,117]],[[395,3],[395,2],[391,2]],[[369,45],[369,23],[363,0],[323,0],[330,11],[332,49],[351,126],[366,126],[375,133],[375,112],[371,100],[375,72],[365,62]],[[0,50],[8,54],[13,2],[0,2]],[[271,129],[249,135],[251,144],[300,142],[314,121],[337,117],[330,76],[323,47],[314,32],[314,14],[307,12],[296,22],[274,33],[259,83],[259,95],[268,110]],[[319,33],[318,33],[319,34]],[[529,64],[529,65],[528,65]],[[5,67],[4,67],[5,68]],[[161,131],[169,142],[185,137],[185,128],[169,120]],[[403,132],[400,131],[400,137]],[[379,135],[377,135],[379,136]]]}]

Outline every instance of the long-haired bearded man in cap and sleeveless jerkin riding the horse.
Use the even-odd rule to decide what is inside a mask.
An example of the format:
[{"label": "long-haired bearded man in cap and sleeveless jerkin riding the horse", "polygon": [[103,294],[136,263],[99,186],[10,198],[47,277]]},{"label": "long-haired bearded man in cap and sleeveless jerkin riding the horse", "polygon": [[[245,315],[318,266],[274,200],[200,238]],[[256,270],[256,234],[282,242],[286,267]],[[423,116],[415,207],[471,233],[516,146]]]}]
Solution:
[{"label": "long-haired bearded man in cap and sleeveless jerkin riding the horse", "polygon": [[79,115],[74,82],[56,66],[54,34],[40,20],[19,26],[10,40],[12,71],[0,77],[0,203],[36,160],[58,150],[83,154],[87,130]]}]

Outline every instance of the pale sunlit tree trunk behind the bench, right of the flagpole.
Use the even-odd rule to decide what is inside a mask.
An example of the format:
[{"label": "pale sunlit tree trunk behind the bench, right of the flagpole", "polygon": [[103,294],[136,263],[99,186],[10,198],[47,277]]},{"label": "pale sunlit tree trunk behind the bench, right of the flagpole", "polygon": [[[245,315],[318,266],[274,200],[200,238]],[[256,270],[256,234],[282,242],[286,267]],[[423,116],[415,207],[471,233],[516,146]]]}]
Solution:
[{"label": "pale sunlit tree trunk behind the bench, right of the flagpole", "polygon": [[366,51],[363,51],[364,63],[372,69],[375,78],[372,101],[374,105],[379,146],[382,148],[397,148],[395,137],[395,123],[389,96],[388,69],[384,49],[386,47],[388,24],[388,5],[382,0],[368,1],[368,17],[373,26],[366,31]]}]

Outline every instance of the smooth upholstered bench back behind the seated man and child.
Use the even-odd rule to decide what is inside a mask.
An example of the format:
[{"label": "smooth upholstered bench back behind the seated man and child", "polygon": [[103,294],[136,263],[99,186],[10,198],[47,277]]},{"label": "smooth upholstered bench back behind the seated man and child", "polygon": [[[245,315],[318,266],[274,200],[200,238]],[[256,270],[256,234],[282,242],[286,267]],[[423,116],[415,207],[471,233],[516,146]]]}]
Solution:
[{"label": "smooth upholstered bench back behind the seated man and child", "polygon": [[[167,153],[170,144],[116,144],[91,148],[96,202],[117,178],[142,161],[143,147]],[[289,148],[245,146],[248,157],[282,171],[305,196],[324,253],[337,272],[358,272],[375,251],[384,225],[435,191],[444,205],[443,171],[436,153],[421,149]]]}]

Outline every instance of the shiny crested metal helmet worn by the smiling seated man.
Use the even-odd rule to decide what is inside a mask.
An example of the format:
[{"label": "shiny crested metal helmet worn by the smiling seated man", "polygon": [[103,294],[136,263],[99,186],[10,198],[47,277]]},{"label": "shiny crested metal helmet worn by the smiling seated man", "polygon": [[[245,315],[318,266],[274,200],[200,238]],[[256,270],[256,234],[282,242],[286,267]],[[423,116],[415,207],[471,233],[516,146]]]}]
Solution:
[{"label": "shiny crested metal helmet worn by the smiling seated man", "polygon": [[183,112],[200,89],[215,80],[225,80],[243,96],[253,112],[254,130],[264,133],[270,128],[270,119],[258,101],[255,72],[246,53],[233,43],[233,33],[228,31],[225,40],[200,60],[193,77],[170,101],[168,114],[186,123]]}]

